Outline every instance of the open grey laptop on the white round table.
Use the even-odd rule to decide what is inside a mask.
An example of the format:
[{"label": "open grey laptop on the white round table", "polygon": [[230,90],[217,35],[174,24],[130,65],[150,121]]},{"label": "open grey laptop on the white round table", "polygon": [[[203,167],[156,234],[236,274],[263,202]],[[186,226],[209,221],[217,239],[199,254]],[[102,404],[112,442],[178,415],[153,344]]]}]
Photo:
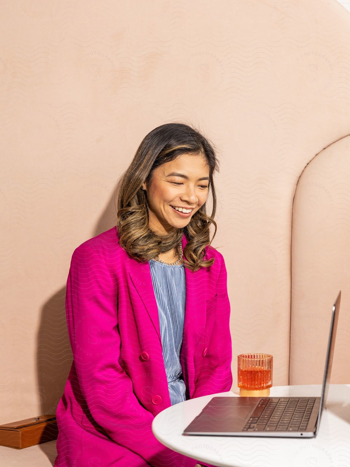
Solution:
[{"label": "open grey laptop on the white round table", "polygon": [[327,402],[341,290],[332,308],[321,397],[213,397],[183,435],[315,438]]}]

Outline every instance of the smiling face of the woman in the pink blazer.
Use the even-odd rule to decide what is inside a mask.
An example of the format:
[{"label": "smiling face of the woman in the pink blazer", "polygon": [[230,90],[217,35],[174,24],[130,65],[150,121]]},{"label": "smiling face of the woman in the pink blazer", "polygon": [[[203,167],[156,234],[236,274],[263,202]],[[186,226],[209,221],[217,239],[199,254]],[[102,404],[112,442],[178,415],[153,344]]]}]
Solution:
[{"label": "smiling face of the woman in the pink blazer", "polygon": [[[174,227],[187,226],[207,200],[208,185],[209,165],[202,155],[178,156],[154,170],[150,186],[142,185],[147,191],[150,229],[165,235]],[[177,211],[175,207],[191,212]]]}]

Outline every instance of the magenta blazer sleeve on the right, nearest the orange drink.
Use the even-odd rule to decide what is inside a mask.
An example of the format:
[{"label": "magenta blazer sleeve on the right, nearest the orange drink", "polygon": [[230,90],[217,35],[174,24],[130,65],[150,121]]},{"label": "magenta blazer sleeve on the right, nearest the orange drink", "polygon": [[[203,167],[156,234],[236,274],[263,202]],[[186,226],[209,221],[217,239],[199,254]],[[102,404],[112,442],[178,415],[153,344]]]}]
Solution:
[{"label": "magenta blazer sleeve on the right, nearest the orange drink", "polygon": [[231,307],[227,293],[227,271],[221,253],[217,260],[221,260],[221,263],[217,279],[216,306],[213,307],[216,316],[208,351],[203,357],[192,398],[229,391],[232,386]]}]

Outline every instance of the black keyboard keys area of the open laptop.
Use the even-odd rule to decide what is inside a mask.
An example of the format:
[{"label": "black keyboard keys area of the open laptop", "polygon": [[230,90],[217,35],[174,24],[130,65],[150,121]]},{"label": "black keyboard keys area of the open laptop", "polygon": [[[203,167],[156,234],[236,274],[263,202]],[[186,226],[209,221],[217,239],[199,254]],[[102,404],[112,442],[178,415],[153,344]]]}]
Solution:
[{"label": "black keyboard keys area of the open laptop", "polygon": [[242,431],[294,432],[306,430],[314,404],[314,397],[284,400],[262,397]]}]

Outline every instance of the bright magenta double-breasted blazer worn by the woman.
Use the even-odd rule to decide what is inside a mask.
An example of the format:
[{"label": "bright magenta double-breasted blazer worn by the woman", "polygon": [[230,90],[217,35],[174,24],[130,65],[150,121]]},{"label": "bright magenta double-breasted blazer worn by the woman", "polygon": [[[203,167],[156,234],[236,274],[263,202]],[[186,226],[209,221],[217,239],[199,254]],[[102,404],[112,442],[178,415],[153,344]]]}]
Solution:
[{"label": "bright magenta double-breasted blazer worn by the woman", "polygon": [[[183,236],[183,250],[186,243]],[[221,253],[207,247],[212,256],[210,268],[185,268],[187,399],[232,385],[227,274]],[[171,405],[158,308],[149,263],[119,246],[115,226],[74,250],[65,304],[73,362],[56,411],[54,466],[194,467],[152,433],[155,415]]]}]

